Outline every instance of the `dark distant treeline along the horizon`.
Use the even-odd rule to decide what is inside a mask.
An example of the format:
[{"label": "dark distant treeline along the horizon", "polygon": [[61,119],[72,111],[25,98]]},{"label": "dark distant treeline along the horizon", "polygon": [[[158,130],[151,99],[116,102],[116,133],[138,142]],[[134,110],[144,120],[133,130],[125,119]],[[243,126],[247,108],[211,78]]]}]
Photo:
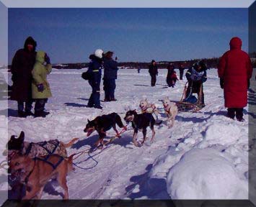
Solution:
[{"label": "dark distant treeline along the horizon", "polygon": [[[250,57],[252,57],[252,65],[253,68],[256,68],[256,52],[252,52],[250,54]],[[167,68],[167,65],[169,63],[173,63],[175,65],[175,68],[179,68],[180,65],[185,65],[185,68],[190,68],[193,63],[198,62],[199,59],[194,60],[186,60],[186,61],[159,61],[157,62],[157,66],[159,69],[161,68]],[[219,63],[219,57],[213,57],[213,58],[205,58],[200,59],[203,60],[208,68],[217,68]],[[150,63],[138,63],[138,62],[123,62],[118,63],[119,68],[122,69],[134,69],[134,68],[149,68]],[[89,63],[65,63],[65,64],[53,64],[53,68],[56,69],[81,69],[81,68],[87,68]],[[8,65],[8,68],[11,68],[11,65]]]}]

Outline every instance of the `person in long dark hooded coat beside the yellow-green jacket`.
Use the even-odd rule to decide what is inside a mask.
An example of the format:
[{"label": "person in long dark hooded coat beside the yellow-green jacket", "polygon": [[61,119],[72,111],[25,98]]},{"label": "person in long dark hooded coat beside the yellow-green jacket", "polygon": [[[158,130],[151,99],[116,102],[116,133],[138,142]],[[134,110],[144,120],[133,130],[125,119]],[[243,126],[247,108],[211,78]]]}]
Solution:
[{"label": "person in long dark hooded coat beside the yellow-green jacket", "polygon": [[[12,59],[12,93],[11,99],[18,103],[18,116],[33,115],[32,109],[32,74],[35,65],[35,47],[37,42],[32,37],[27,37],[24,48],[17,50]],[[25,103],[25,111],[24,111]]]}]

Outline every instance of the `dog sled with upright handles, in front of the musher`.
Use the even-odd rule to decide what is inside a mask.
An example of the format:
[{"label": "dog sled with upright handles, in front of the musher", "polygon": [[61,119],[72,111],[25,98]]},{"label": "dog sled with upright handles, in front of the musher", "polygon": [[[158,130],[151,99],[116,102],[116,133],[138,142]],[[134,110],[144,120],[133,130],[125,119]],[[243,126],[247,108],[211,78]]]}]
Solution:
[{"label": "dog sled with upright handles, in front of the musher", "polygon": [[204,107],[203,103],[202,103],[203,85],[201,84],[201,86],[200,86],[200,91],[199,91],[199,94],[198,94],[198,98],[196,98],[193,95],[192,86],[190,88],[189,96],[186,97],[187,87],[188,87],[187,83],[185,84],[185,87],[184,87],[184,90],[183,90],[183,93],[182,93],[182,98],[180,98],[180,101],[175,101],[175,103],[177,104],[178,110],[181,111],[181,112],[185,112],[185,111],[197,112],[197,111],[200,111],[200,109],[202,109]]}]

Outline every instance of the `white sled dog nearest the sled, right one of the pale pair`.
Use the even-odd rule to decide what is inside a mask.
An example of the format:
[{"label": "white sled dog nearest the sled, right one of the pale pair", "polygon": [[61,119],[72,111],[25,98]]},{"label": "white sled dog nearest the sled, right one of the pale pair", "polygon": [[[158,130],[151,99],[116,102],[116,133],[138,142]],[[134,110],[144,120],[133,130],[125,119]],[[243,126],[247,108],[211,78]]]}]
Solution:
[{"label": "white sled dog nearest the sled, right one of the pale pair", "polygon": [[178,108],[176,103],[169,101],[169,98],[164,98],[162,101],[164,106],[164,112],[167,114],[167,124],[168,127],[171,128],[175,125],[175,116],[178,114]]}]

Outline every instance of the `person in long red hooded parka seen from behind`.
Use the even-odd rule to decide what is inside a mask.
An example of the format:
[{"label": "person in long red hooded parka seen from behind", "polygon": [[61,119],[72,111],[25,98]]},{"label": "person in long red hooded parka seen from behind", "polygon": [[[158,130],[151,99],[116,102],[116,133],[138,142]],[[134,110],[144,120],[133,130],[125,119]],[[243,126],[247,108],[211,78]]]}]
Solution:
[{"label": "person in long red hooded parka seen from behind", "polygon": [[224,88],[225,107],[227,116],[238,121],[244,121],[243,108],[247,106],[247,89],[252,78],[252,62],[247,52],[242,48],[242,40],[233,37],[230,50],[221,57],[218,66],[221,88]]}]

